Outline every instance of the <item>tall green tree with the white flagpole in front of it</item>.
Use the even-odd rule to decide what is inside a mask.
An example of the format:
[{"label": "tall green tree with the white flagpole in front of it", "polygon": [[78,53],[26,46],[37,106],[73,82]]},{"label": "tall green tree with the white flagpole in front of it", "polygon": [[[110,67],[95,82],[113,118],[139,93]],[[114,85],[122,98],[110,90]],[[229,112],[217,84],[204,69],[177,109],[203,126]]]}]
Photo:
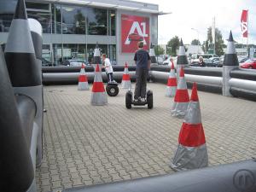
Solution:
[{"label": "tall green tree with the white flagpole in front of it", "polygon": [[[210,43],[210,44],[209,44]],[[207,29],[207,42],[206,42],[206,50],[207,47],[211,48],[211,44],[212,44],[212,26],[210,26]],[[218,28],[215,28],[215,53],[216,55],[224,55],[224,40],[222,38],[222,34],[221,32],[218,30]]]}]

